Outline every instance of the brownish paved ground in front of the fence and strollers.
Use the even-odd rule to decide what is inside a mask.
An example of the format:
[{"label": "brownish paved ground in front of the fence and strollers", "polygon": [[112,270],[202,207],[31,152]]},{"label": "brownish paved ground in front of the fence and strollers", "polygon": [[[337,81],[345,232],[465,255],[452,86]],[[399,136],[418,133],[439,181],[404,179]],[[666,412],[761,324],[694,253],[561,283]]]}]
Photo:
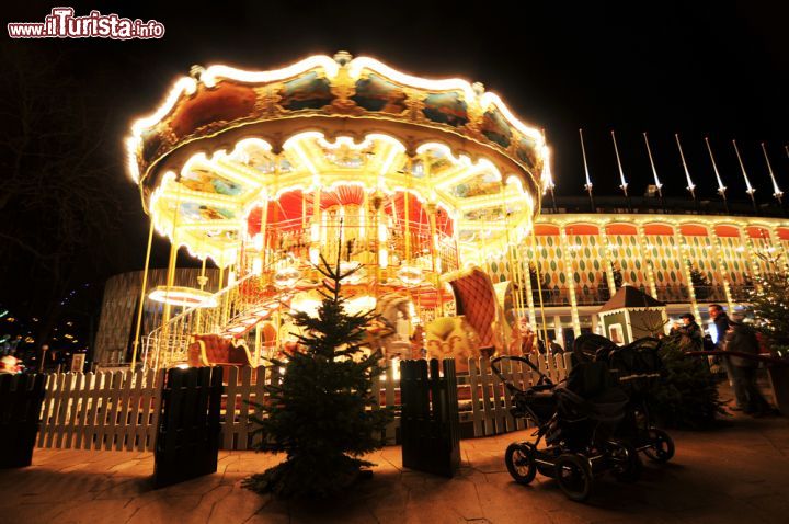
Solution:
[{"label": "brownish paved ground in front of the fence and strollers", "polygon": [[789,420],[731,419],[709,432],[673,432],[677,454],[636,485],[602,479],[587,504],[553,480],[514,483],[506,445],[527,432],[461,442],[454,479],[403,470],[400,448],[345,500],[284,503],[241,488],[277,457],[225,453],[216,475],[152,490],[150,454],[36,449],[34,465],[0,471],[0,523],[757,523],[789,522]]}]

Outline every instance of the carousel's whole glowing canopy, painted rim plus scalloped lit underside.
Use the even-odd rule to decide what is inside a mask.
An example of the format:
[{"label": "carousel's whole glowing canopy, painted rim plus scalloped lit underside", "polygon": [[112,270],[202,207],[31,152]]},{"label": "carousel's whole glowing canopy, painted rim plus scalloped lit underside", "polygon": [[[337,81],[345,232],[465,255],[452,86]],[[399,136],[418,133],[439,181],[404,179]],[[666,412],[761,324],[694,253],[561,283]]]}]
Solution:
[{"label": "carousel's whole glowing canopy, painted rim plus scalloped lit underside", "polygon": [[309,210],[365,195],[395,220],[441,209],[438,229],[477,257],[529,230],[548,180],[541,133],[481,84],[345,53],[274,71],[194,67],[127,149],[157,229],[219,265],[263,215],[302,227]]}]

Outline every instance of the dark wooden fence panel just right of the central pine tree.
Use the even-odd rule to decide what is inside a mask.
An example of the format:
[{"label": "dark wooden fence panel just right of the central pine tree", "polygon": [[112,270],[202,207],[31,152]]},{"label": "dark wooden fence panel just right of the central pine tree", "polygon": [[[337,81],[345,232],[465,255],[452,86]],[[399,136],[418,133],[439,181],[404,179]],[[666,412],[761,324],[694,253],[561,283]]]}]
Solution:
[{"label": "dark wooden fence panel just right of the central pine tree", "polygon": [[400,392],[402,415],[400,435],[403,466],[419,471],[453,477],[460,467],[460,423],[458,419],[455,360],[402,361]]}]

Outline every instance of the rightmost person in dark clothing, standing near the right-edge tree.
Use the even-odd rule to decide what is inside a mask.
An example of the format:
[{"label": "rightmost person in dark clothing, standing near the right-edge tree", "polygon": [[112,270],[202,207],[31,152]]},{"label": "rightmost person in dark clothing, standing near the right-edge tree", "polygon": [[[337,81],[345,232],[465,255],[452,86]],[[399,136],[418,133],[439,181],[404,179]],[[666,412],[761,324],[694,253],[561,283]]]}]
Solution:
[{"label": "rightmost person in dark clothing, standing near the right-edge tree", "polygon": [[[723,338],[723,351],[757,355],[759,352],[756,333],[748,326],[742,323],[742,314],[732,314],[729,319],[729,331]],[[756,386],[756,368],[758,362],[744,356],[731,355],[725,357],[727,368],[734,387],[736,399],[735,411],[748,414],[765,414],[770,406],[762,396]]]}]

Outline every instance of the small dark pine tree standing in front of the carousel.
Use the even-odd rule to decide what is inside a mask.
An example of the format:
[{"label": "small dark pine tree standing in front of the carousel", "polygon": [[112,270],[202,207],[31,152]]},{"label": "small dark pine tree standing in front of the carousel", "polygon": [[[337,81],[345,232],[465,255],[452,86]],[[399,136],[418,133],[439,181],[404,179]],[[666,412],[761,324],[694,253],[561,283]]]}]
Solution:
[{"label": "small dark pine tree standing in front of the carousel", "polygon": [[282,498],[330,497],[347,489],[373,464],[361,459],[384,445],[381,434],[391,411],[376,409],[370,392],[374,377],[384,368],[381,353],[365,354],[365,327],[373,312],[350,315],[340,294],[340,264],[331,267],[321,258],[317,267],[325,277],[318,317],[293,315],[304,329],[299,350],[287,362],[281,384],[266,387],[268,399],[255,405],[259,451],[286,453],[285,462],[245,480],[244,486]]}]

